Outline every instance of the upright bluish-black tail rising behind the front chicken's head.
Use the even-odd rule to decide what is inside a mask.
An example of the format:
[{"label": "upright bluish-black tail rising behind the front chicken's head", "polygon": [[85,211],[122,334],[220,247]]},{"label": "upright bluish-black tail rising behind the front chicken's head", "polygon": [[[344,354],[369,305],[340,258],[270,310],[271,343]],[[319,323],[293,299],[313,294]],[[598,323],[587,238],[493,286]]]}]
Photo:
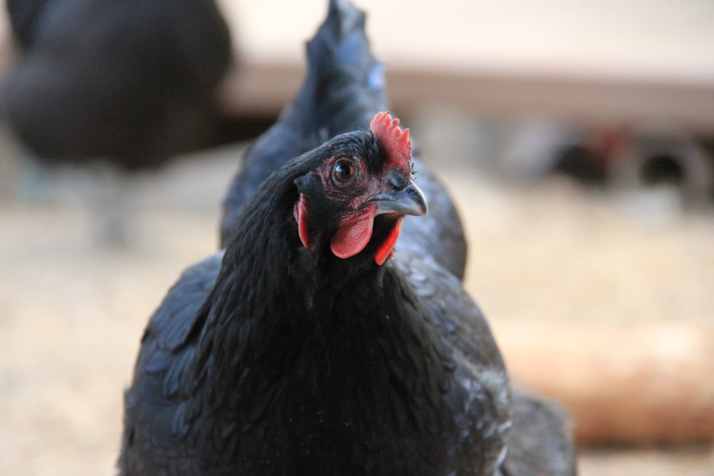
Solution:
[{"label": "upright bluish-black tail rising behind the front chicken's head", "polygon": [[273,169],[340,133],[367,129],[388,108],[383,66],[365,34],[365,14],[346,0],[331,0],[328,16],[306,45],[307,76],[278,121],[258,138],[223,202],[221,245],[231,236],[243,203]]}]

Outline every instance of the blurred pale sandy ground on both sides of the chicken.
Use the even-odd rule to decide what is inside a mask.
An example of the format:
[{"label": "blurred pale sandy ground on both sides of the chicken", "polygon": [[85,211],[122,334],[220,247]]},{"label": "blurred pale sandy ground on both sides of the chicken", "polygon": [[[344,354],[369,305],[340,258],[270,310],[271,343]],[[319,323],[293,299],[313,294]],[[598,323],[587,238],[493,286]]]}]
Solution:
[{"label": "blurred pale sandy ground on both sides of the chicken", "polygon": [[[178,273],[216,250],[237,153],[186,158],[122,188],[131,233],[119,249],[96,243],[78,198],[91,173],[16,161],[0,170],[1,475],[114,472],[141,332]],[[443,176],[468,224],[468,289],[497,335],[499,323],[526,320],[714,317],[710,211],[562,181],[523,186],[458,168]],[[580,474],[711,476],[714,457],[708,447],[585,448]]]}]

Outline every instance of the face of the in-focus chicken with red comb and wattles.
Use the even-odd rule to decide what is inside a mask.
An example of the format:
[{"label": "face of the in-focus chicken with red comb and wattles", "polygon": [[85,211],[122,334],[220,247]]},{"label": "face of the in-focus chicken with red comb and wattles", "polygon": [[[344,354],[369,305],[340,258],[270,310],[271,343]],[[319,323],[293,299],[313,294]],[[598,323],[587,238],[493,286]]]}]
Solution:
[{"label": "face of the in-focus chicken with red comb and wattles", "polygon": [[338,258],[367,250],[381,265],[393,252],[403,218],[426,215],[427,205],[413,181],[408,129],[378,113],[370,130],[323,146],[326,160],[296,180],[300,195],[293,216],[306,248],[329,240]]}]

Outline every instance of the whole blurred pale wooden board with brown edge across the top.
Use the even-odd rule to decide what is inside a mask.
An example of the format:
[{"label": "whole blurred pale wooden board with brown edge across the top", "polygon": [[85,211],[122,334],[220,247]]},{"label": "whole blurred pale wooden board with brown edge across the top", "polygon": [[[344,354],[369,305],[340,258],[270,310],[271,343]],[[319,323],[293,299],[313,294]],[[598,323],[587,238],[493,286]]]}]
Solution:
[{"label": "whole blurred pale wooden board with brown edge across the top", "polygon": [[[608,126],[658,121],[714,134],[714,3],[354,0],[367,12],[393,108]],[[275,114],[302,79],[327,1],[220,1],[241,68],[226,107]]]}]

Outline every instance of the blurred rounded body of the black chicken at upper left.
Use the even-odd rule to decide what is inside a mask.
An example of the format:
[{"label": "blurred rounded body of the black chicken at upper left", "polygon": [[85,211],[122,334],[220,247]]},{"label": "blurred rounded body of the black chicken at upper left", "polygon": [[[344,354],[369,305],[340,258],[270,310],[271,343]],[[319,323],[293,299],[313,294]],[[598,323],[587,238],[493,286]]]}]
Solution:
[{"label": "blurred rounded body of the black chicken at upper left", "polygon": [[8,0],[18,62],[1,112],[36,155],[152,168],[217,119],[231,61],[213,0]]}]

